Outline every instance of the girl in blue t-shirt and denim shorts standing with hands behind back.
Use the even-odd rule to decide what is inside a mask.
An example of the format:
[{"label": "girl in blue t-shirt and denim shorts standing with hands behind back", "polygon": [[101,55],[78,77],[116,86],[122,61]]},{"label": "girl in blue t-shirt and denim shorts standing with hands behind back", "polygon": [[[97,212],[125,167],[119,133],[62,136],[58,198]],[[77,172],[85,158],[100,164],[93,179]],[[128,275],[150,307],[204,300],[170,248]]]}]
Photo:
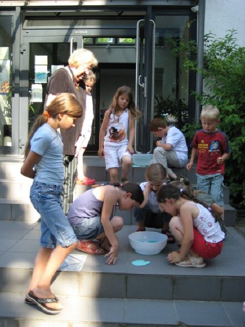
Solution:
[{"label": "girl in blue t-shirt and denim shorts standing with hands behind back", "polygon": [[62,309],[51,291],[51,281],[65,257],[77,246],[77,237],[61,204],[63,143],[57,129],[72,128],[82,113],[74,95],[62,93],[54,96],[30,131],[20,170],[22,175],[34,179],[30,199],[41,216],[41,248],[25,302],[37,305],[47,314],[57,314]]}]

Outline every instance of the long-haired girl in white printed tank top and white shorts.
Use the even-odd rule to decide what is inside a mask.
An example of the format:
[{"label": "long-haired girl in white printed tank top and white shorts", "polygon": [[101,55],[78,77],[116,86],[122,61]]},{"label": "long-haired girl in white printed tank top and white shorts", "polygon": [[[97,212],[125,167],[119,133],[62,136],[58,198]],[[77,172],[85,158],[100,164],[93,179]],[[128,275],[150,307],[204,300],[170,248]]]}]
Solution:
[{"label": "long-haired girl in white printed tank top and white shorts", "polygon": [[135,119],[140,116],[131,88],[119,87],[110,108],[105,112],[99,139],[98,155],[105,156],[106,170],[109,171],[111,182],[118,182],[118,161],[122,164],[121,181],[127,180],[134,153]]}]

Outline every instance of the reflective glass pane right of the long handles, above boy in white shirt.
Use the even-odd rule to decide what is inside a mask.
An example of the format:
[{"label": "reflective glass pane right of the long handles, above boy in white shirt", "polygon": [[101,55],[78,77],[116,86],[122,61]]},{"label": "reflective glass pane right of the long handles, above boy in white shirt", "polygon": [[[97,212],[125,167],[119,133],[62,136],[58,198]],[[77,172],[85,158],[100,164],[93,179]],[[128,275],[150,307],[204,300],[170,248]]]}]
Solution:
[{"label": "reflective glass pane right of the long handles, above boy in white shirt", "polygon": [[155,39],[155,116],[179,128],[188,118],[189,74],[183,69],[183,54],[173,50],[189,40],[189,16],[156,15]]}]

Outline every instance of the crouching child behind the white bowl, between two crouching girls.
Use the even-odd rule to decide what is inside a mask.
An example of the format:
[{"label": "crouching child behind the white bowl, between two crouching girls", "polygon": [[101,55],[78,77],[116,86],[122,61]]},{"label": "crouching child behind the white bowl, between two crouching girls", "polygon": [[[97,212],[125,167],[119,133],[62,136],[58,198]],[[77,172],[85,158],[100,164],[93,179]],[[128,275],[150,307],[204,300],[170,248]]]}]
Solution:
[{"label": "crouching child behind the white bowl, between two crouching girls", "polygon": [[144,231],[145,227],[161,228],[161,232],[167,236],[167,242],[174,243],[175,239],[168,230],[171,215],[161,212],[157,202],[157,191],[166,181],[166,169],[160,164],[152,164],[146,169],[145,179],[146,182],[140,184],[144,201],[140,207],[133,209],[137,231]]}]

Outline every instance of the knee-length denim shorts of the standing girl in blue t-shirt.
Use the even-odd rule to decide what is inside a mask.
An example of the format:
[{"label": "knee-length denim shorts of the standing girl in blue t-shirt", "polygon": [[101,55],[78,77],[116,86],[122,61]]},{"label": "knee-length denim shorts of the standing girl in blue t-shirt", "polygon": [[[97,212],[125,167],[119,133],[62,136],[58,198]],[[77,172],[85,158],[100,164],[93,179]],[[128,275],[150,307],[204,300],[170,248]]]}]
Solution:
[{"label": "knee-length denim shorts of the standing girl in blue t-shirt", "polygon": [[63,187],[33,181],[30,199],[41,216],[41,247],[55,248],[59,243],[67,247],[77,242],[77,237],[66,218],[61,194]]}]

